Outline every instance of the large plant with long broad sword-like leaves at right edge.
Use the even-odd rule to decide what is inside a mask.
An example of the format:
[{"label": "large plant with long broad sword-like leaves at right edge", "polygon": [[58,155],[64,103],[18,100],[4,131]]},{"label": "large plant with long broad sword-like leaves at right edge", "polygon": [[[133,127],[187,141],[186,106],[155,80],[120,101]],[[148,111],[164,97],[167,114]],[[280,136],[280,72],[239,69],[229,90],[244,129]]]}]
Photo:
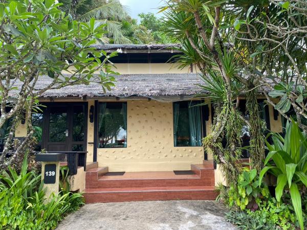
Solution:
[{"label": "large plant with long broad sword-like leaves at right edge", "polygon": [[277,177],[275,189],[276,200],[285,191],[290,192],[292,205],[303,229],[303,215],[300,189],[307,187],[307,135],[301,132],[297,123],[292,120],[287,124],[284,138],[278,133],[271,133],[273,144],[267,142],[269,154],[265,159],[265,167],[261,170],[259,183],[266,172]]}]

